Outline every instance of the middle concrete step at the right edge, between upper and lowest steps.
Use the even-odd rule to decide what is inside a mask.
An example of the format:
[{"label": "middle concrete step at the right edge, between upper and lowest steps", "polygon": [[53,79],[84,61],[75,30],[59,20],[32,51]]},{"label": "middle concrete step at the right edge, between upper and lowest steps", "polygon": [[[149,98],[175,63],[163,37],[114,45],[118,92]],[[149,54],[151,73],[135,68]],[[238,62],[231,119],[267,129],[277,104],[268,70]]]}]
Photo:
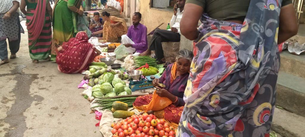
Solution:
[{"label": "middle concrete step at the right edge, between upper and lowest steps", "polygon": [[305,117],[305,78],[280,71],[276,92],[277,106]]}]

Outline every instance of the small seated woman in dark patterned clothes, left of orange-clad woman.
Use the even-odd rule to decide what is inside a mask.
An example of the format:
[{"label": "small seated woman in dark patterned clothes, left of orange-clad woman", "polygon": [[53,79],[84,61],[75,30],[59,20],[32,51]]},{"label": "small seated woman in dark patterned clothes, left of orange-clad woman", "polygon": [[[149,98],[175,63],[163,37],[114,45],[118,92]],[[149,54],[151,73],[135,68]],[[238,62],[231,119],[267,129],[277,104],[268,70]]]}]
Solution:
[{"label": "small seated woman in dark patterned clothes, left of orange-clad woman", "polygon": [[[92,33],[103,29],[104,20],[99,17],[99,12],[93,13],[94,18],[90,20],[89,29]],[[91,37],[103,37],[103,33],[91,35]]]}]

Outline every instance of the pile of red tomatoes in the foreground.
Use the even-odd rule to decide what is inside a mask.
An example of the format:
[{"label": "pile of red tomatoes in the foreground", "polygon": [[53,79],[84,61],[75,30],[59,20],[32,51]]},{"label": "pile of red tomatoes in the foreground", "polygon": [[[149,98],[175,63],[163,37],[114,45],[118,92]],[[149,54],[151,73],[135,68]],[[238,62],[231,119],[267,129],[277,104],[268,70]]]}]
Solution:
[{"label": "pile of red tomatoes in the foreground", "polygon": [[132,115],[121,122],[112,123],[113,137],[174,137],[175,128],[153,114]]}]

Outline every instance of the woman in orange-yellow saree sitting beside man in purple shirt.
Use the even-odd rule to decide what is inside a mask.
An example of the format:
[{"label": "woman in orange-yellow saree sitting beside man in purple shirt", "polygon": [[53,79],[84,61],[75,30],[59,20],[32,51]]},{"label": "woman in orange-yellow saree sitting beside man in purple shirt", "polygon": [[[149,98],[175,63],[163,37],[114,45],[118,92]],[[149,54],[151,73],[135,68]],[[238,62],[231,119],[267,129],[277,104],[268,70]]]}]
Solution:
[{"label": "woman in orange-yellow saree sitting beside man in purple shirt", "polygon": [[102,18],[105,21],[103,30],[92,33],[93,35],[103,33],[103,39],[107,42],[117,42],[118,37],[127,33],[127,26],[124,19],[116,16],[110,16],[106,11],[102,12]]}]

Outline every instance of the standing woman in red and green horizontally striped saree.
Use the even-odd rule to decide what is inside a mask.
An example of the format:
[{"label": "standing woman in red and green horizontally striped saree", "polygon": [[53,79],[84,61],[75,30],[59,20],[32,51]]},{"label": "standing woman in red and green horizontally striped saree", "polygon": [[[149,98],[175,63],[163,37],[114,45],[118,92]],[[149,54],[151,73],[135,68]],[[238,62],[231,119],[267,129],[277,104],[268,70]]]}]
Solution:
[{"label": "standing woman in red and green horizontally striped saree", "polygon": [[47,0],[21,0],[20,10],[27,16],[29,51],[33,63],[49,59],[52,40],[50,3]]}]

